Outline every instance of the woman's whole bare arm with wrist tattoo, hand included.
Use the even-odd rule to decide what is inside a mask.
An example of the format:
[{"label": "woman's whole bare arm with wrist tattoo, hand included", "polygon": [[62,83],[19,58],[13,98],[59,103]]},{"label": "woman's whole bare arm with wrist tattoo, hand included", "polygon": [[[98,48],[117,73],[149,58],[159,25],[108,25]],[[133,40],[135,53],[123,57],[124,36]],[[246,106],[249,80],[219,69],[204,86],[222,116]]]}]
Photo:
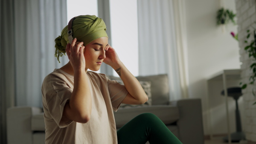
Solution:
[{"label": "woman's whole bare arm with wrist tattoo, hand included", "polygon": [[119,60],[115,50],[111,46],[107,46],[106,49],[106,58],[104,62],[116,70],[128,91],[128,95],[125,97],[122,103],[144,104],[146,101],[148,101],[148,96],[145,94],[145,91],[137,78],[135,78],[134,75],[132,75],[125,65]]}]

